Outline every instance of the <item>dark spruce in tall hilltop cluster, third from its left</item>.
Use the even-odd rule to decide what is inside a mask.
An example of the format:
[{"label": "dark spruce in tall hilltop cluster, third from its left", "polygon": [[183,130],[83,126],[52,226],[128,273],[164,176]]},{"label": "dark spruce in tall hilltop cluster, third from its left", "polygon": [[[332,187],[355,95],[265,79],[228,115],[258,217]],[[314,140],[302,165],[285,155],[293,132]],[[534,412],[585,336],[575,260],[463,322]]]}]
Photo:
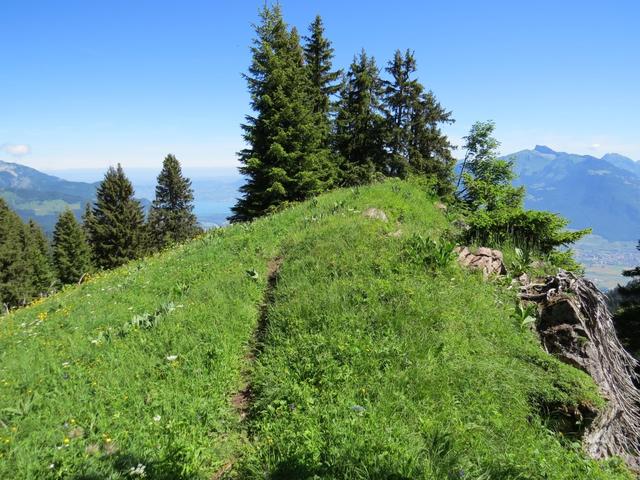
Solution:
[{"label": "dark spruce in tall hilltop cluster, third from its left", "polygon": [[376,173],[386,173],[381,94],[375,59],[363,50],[349,67],[338,103],[334,141],[343,185],[367,183]]}]

